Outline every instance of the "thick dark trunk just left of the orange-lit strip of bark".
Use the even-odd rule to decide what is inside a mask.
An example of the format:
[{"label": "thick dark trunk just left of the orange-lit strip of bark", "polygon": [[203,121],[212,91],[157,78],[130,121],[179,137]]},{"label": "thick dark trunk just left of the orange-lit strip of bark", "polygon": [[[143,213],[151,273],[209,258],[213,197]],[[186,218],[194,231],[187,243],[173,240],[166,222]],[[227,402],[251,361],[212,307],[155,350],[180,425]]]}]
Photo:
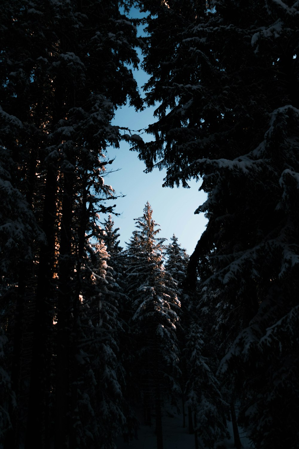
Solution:
[{"label": "thick dark trunk just left of the orange-lit strip of bark", "polygon": [[[47,243],[40,250],[30,376],[26,449],[49,447],[49,387],[51,376],[53,268],[55,258],[56,174],[48,169],[43,204],[43,231]],[[47,429],[47,430],[46,430]]]}]

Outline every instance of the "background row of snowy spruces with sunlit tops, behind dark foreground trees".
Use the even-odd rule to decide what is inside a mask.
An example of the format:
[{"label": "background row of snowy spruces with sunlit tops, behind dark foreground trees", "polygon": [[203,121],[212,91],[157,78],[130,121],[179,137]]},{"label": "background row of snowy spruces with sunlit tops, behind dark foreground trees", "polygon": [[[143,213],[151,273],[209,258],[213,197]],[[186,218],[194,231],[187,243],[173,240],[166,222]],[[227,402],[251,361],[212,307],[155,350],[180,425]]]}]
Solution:
[{"label": "background row of snowy spruces with sunlit tops, behind dark foreground trees", "polygon": [[[70,328],[65,331],[72,345],[64,352],[68,361],[61,361],[56,351],[61,344],[58,292],[49,297],[51,323],[44,325],[51,327],[41,354],[48,365],[41,386],[30,386],[37,338],[34,298],[23,297],[18,310],[13,304],[18,285],[3,277],[2,299],[8,301],[2,311],[1,339],[4,448],[27,446],[32,440],[28,428],[36,387],[43,389],[44,402],[34,410],[34,438],[43,447],[115,448],[117,436],[128,443],[137,436],[143,414],[141,423],[155,426],[157,447],[162,449],[162,416],[169,404],[182,413],[182,426],[195,434],[195,447],[204,443],[212,448],[227,436],[225,417],[230,417],[230,406],[214,374],[219,361],[216,339],[214,344],[211,341],[212,311],[204,304],[204,320],[200,319],[197,295],[183,291],[186,250],[175,235],[169,244],[157,236],[160,229],[149,202],[135,225],[126,249],[119,246],[119,229],[110,214],[98,227],[101,238],[89,240],[76,280],[80,280],[77,304],[68,311]],[[64,385],[60,364],[68,369]],[[223,391],[225,397],[231,396],[227,388]],[[63,416],[57,410],[62,405]],[[62,418],[64,442],[56,434]]]}]

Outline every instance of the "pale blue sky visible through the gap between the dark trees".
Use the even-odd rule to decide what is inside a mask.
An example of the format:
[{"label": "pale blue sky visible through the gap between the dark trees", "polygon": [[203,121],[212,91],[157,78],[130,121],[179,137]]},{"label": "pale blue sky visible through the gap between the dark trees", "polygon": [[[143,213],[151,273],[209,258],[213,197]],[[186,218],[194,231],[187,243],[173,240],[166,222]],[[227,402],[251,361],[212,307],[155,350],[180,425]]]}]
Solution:
[{"label": "pale blue sky visible through the gap between the dark trees", "polygon": [[[147,74],[139,69],[134,70],[134,75],[144,97],[142,86],[147,81]],[[154,110],[151,107],[136,113],[134,108],[124,106],[116,111],[113,124],[133,130],[145,128],[155,121]],[[143,138],[150,140],[152,137],[143,134]],[[152,173],[144,173],[145,164],[139,160],[138,153],[130,151],[129,145],[124,141],[119,149],[111,148],[108,157],[115,157],[111,166],[114,172],[105,176],[105,183],[112,185],[116,194],[126,195],[125,198],[117,199],[115,211],[121,215],[113,218],[115,226],[120,228],[121,245],[126,247],[125,242],[129,242],[135,227],[134,218],[142,216],[144,205],[148,201],[153,209],[153,218],[161,228],[159,237],[170,240],[174,233],[178,242],[191,255],[207,223],[203,213],[194,214],[195,209],[206,199],[206,194],[199,192],[201,182],[192,180],[189,182],[190,189],[163,188],[166,172],[154,169]],[[120,170],[116,171],[117,169]]]}]

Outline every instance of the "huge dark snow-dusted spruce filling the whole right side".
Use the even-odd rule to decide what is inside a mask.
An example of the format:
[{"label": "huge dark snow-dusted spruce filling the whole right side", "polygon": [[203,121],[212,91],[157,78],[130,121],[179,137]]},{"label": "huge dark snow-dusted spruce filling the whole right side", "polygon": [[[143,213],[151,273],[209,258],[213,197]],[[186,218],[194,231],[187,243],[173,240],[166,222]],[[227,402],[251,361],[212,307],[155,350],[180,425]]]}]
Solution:
[{"label": "huge dark snow-dusted spruce filling the whole right side", "polygon": [[234,344],[221,372],[234,379],[251,440],[295,448],[299,5],[170,0],[143,8],[151,12],[147,101],[160,105],[141,158],[148,170],[167,167],[166,185],[203,177],[208,199],[197,212],[209,222],[190,257],[189,285],[199,267],[223,310],[227,347]]}]

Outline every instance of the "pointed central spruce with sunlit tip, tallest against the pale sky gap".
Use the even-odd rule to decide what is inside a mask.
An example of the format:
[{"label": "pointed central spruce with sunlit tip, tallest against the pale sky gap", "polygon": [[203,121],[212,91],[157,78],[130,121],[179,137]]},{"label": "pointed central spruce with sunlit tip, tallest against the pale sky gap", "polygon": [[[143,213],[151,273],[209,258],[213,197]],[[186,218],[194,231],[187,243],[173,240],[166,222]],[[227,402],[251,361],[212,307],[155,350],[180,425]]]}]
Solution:
[{"label": "pointed central spruce with sunlit tip, tallest against the pale sky gap", "polygon": [[157,226],[147,202],[143,216],[136,219],[137,229],[126,250],[126,274],[133,309],[134,353],[138,354],[134,363],[134,381],[143,393],[147,423],[155,407],[157,444],[162,448],[162,398],[167,395],[174,399],[180,392],[176,337],[180,303],[177,285],[163,267],[162,243],[165,239],[157,237],[160,231]]}]

